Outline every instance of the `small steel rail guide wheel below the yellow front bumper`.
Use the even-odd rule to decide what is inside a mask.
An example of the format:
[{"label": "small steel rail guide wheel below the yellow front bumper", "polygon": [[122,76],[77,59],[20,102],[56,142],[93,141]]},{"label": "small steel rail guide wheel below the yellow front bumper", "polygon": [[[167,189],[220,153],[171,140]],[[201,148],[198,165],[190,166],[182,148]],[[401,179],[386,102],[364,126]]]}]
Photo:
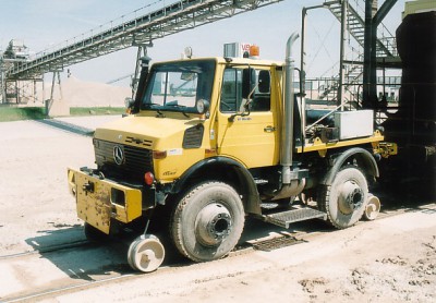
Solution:
[{"label": "small steel rail guide wheel below the yellow front bumper", "polygon": [[130,244],[128,262],[134,270],[143,272],[154,271],[159,268],[164,258],[164,245],[153,234],[143,234]]}]

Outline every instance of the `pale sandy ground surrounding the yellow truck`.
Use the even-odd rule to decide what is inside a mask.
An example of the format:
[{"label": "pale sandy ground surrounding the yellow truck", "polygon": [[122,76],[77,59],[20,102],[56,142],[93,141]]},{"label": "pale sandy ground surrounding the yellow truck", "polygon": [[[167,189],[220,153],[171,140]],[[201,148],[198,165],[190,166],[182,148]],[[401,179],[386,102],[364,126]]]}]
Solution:
[{"label": "pale sandy ground surrounding the yellow truck", "polygon": [[[110,119],[114,117],[64,121],[92,129]],[[93,165],[92,138],[35,121],[0,123],[0,256],[83,239],[65,169]],[[416,201],[399,215],[347,230],[323,223],[299,228],[308,232],[301,244],[271,252],[242,250],[205,264],[165,265],[153,274],[27,301],[436,302],[434,202]],[[250,222],[243,237],[284,232],[267,225],[258,229],[255,235]],[[97,272],[93,266],[102,268],[101,259],[107,271],[126,264],[107,247],[93,252],[69,260],[45,255],[1,259],[0,301],[44,284],[56,288],[71,278],[74,262],[86,264],[81,268],[89,272]],[[81,277],[74,281],[86,280]]]}]

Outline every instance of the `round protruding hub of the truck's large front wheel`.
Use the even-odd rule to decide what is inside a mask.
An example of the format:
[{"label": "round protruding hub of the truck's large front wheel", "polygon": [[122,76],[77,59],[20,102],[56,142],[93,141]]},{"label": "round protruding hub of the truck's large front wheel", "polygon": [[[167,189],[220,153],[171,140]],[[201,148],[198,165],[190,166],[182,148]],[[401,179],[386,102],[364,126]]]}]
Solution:
[{"label": "round protruding hub of the truck's large front wheel", "polygon": [[198,213],[195,231],[203,244],[217,245],[230,234],[231,229],[232,218],[221,204],[209,204]]}]

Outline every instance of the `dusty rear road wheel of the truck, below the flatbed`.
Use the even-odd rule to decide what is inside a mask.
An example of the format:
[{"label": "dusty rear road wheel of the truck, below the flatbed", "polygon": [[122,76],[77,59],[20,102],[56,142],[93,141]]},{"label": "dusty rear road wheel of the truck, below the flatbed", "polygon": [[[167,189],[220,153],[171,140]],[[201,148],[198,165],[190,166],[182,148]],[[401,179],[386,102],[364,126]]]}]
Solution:
[{"label": "dusty rear road wheel of the truck, below the flatbed", "polygon": [[327,213],[329,222],[344,229],[355,225],[365,211],[368,187],[365,175],[355,167],[346,167],[331,185],[318,191],[318,208]]}]

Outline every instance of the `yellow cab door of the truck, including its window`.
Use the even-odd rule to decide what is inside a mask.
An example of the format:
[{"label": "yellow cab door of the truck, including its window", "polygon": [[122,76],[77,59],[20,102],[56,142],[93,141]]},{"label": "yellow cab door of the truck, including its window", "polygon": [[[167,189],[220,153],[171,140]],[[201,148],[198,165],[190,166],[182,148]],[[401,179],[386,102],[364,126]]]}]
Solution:
[{"label": "yellow cab door of the truck, including its window", "polygon": [[218,112],[217,153],[247,168],[278,163],[278,125],[267,66],[227,66]]}]

